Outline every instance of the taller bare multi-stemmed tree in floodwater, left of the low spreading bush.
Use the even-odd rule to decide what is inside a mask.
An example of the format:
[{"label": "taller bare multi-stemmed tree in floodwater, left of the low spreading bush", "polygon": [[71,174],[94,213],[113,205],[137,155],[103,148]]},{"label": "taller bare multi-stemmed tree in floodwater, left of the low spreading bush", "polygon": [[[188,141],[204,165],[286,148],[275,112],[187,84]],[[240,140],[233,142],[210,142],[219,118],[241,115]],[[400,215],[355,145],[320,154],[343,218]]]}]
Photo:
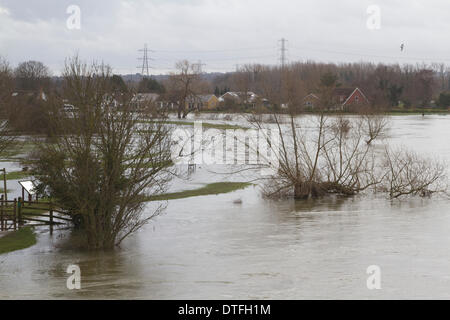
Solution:
[{"label": "taller bare multi-stemmed tree in floodwater, left of the low spreading bush", "polygon": [[[279,135],[279,144],[269,145],[277,155],[278,168],[266,184],[266,196],[290,194],[305,199],[329,193],[353,195],[377,182],[372,174],[373,152],[364,143],[362,127],[355,126],[349,133],[350,125],[345,119],[325,113],[333,106],[335,86],[334,75],[322,77],[319,113],[312,118],[299,118],[304,86],[290,68],[283,70],[280,94],[275,92],[272,99],[283,101],[287,108],[282,113],[273,110],[273,129]],[[263,128],[264,123],[256,119],[257,126]]]}]

